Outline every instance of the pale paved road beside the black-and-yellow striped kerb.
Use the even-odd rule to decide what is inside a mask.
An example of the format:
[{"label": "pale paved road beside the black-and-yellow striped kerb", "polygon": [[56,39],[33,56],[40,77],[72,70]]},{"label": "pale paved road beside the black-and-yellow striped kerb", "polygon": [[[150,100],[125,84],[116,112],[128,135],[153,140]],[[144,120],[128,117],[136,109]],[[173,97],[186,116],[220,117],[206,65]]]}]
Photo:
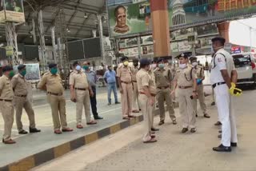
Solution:
[{"label": "pale paved road beside the black-and-yellow striped kerb", "polygon": [[[238,147],[232,153],[212,151],[219,144],[219,128],[214,126],[217,110],[210,106],[211,118],[198,117],[195,134],[180,133],[180,119],[175,126],[168,118],[157,134],[158,142],[145,145],[142,124],[138,124],[34,170],[256,170],[255,97],[256,90],[246,90],[234,100]],[[210,97],[207,100],[209,106]]]}]

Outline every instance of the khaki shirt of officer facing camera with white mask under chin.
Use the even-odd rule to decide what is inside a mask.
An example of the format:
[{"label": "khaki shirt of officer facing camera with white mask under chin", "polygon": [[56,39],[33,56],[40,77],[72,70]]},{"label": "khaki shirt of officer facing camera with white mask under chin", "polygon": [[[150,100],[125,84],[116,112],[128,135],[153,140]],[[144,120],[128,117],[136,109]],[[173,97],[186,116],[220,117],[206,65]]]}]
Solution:
[{"label": "khaki shirt of officer facing camera with white mask under chin", "polygon": [[194,79],[196,78],[198,77],[194,68],[188,65],[185,69],[178,68],[176,70],[174,81],[177,81],[178,86],[193,86]]}]

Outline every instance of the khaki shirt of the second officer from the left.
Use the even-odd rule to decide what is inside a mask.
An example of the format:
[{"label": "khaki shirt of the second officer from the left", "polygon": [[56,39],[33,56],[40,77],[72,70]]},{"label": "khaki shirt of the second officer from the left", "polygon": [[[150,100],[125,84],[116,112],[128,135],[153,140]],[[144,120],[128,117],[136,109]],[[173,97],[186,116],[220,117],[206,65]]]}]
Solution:
[{"label": "khaki shirt of the second officer from the left", "polygon": [[26,78],[24,78],[21,74],[16,74],[12,79],[11,79],[11,84],[14,89],[14,94],[15,95],[27,95],[27,82]]}]

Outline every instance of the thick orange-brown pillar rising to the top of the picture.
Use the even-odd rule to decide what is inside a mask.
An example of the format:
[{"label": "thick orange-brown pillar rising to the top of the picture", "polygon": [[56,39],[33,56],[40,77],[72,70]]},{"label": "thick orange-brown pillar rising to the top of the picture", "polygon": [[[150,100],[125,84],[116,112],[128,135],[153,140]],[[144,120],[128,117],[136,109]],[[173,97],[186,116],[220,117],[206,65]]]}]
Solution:
[{"label": "thick orange-brown pillar rising to the top of the picture", "polygon": [[150,0],[153,23],[154,57],[170,55],[170,29],[167,0]]}]

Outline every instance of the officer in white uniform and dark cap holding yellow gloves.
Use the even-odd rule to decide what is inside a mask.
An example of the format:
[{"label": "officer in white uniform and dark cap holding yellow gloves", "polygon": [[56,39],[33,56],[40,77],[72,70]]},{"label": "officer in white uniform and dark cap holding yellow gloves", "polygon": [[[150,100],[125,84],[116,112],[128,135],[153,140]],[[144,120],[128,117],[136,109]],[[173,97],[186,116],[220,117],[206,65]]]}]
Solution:
[{"label": "officer in white uniform and dark cap holding yellow gloves", "polygon": [[225,38],[213,38],[214,58],[212,60],[210,82],[216,95],[218,117],[222,122],[222,144],[214,151],[230,152],[230,146],[237,146],[238,137],[231,95],[238,96],[241,89],[235,88],[238,74],[231,55],[224,50]]}]

